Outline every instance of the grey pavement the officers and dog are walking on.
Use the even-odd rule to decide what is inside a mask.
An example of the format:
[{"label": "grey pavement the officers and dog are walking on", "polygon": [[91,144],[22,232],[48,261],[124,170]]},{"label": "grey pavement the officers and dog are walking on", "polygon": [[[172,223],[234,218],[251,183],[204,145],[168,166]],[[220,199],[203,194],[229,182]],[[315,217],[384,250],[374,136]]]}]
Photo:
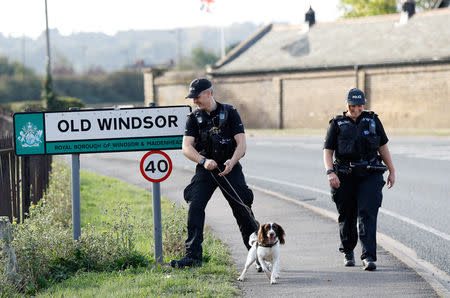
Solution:
[{"label": "grey pavement the officers and dog are walking on", "polygon": [[[102,159],[103,162],[97,163],[95,158],[82,155],[81,169],[151,190],[151,183],[144,180],[137,170],[138,161],[131,167],[129,160],[118,157]],[[174,168],[170,177],[161,182],[161,196],[187,206],[183,189],[189,184],[193,169],[194,165],[192,170]],[[359,244],[355,249],[356,266],[344,267],[343,255],[338,251],[339,233],[335,220],[270,190],[252,189],[255,196],[252,209],[256,219],[260,223],[280,224],[286,232],[286,244],[280,249],[278,284],[271,285],[264,273],[258,273],[252,266],[246,280],[237,282],[244,297],[450,297],[445,288],[426,281],[409,264],[381,246],[377,247],[376,271],[362,269]],[[206,225],[227,244],[234,265],[241,271],[247,250],[231,208],[219,190],[206,208]]]}]

